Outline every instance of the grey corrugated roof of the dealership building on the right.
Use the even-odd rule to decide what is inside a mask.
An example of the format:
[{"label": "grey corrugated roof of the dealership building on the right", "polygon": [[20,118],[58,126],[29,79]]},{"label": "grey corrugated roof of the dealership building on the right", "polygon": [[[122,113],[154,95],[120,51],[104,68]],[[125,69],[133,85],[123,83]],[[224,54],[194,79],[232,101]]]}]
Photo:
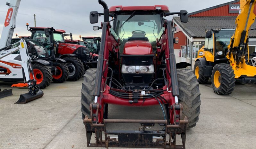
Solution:
[{"label": "grey corrugated roof of the dealership building on the right", "polygon": [[[205,31],[215,28],[235,29],[236,17],[189,17],[187,23],[182,23],[180,17],[173,20],[189,37],[205,37]],[[256,22],[251,28],[256,28]],[[252,30],[250,37],[256,37],[256,30]]]}]

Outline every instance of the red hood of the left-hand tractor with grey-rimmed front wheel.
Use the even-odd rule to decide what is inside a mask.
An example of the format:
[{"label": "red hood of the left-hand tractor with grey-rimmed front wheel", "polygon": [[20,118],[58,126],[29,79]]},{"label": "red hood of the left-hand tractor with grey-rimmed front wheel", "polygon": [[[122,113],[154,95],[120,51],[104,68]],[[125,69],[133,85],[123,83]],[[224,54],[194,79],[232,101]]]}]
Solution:
[{"label": "red hood of the left-hand tractor with grey-rimmed front wheel", "polygon": [[85,46],[71,43],[59,43],[58,53],[59,54],[71,54],[74,53],[78,48],[86,48]]}]

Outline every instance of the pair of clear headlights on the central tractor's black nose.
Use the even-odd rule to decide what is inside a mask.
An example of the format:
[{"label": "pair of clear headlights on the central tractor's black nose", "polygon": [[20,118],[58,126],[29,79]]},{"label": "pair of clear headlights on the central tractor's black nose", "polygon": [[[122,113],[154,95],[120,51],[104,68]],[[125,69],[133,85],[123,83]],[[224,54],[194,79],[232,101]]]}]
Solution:
[{"label": "pair of clear headlights on the central tractor's black nose", "polygon": [[[137,71],[136,71],[137,70]],[[154,73],[154,65],[149,66],[125,66],[122,65],[122,73],[123,74],[153,74]]]}]

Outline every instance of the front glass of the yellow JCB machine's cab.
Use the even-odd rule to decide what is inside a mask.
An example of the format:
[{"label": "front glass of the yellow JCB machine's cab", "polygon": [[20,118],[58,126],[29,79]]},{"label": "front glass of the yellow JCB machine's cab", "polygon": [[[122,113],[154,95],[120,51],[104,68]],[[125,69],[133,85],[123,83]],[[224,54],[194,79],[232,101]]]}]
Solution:
[{"label": "front glass of the yellow JCB machine's cab", "polygon": [[218,33],[215,33],[216,39],[216,52],[225,51],[230,43],[230,39],[234,34],[234,29],[222,29]]}]

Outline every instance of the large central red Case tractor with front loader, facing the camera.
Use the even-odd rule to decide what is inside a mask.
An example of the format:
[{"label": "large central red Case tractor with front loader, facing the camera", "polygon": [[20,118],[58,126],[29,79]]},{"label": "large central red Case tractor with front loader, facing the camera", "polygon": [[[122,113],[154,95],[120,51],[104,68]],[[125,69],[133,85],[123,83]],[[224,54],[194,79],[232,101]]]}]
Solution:
[{"label": "large central red Case tractor with front loader, facing the camera", "polygon": [[[87,147],[185,148],[186,129],[199,120],[199,83],[185,68],[190,64],[176,64],[173,22],[164,17],[178,14],[187,22],[187,11],[169,12],[165,5],[108,9],[104,1],[98,2],[104,13],[90,12],[90,23],[98,23],[98,16],[104,15],[101,26],[93,27],[102,29],[98,65],[85,72],[81,90]],[[108,119],[108,104],[159,105],[163,119]],[[108,123],[139,123],[142,128],[108,130]],[[147,130],[155,124],[163,129]],[[176,145],[176,135],[182,145]]]}]

